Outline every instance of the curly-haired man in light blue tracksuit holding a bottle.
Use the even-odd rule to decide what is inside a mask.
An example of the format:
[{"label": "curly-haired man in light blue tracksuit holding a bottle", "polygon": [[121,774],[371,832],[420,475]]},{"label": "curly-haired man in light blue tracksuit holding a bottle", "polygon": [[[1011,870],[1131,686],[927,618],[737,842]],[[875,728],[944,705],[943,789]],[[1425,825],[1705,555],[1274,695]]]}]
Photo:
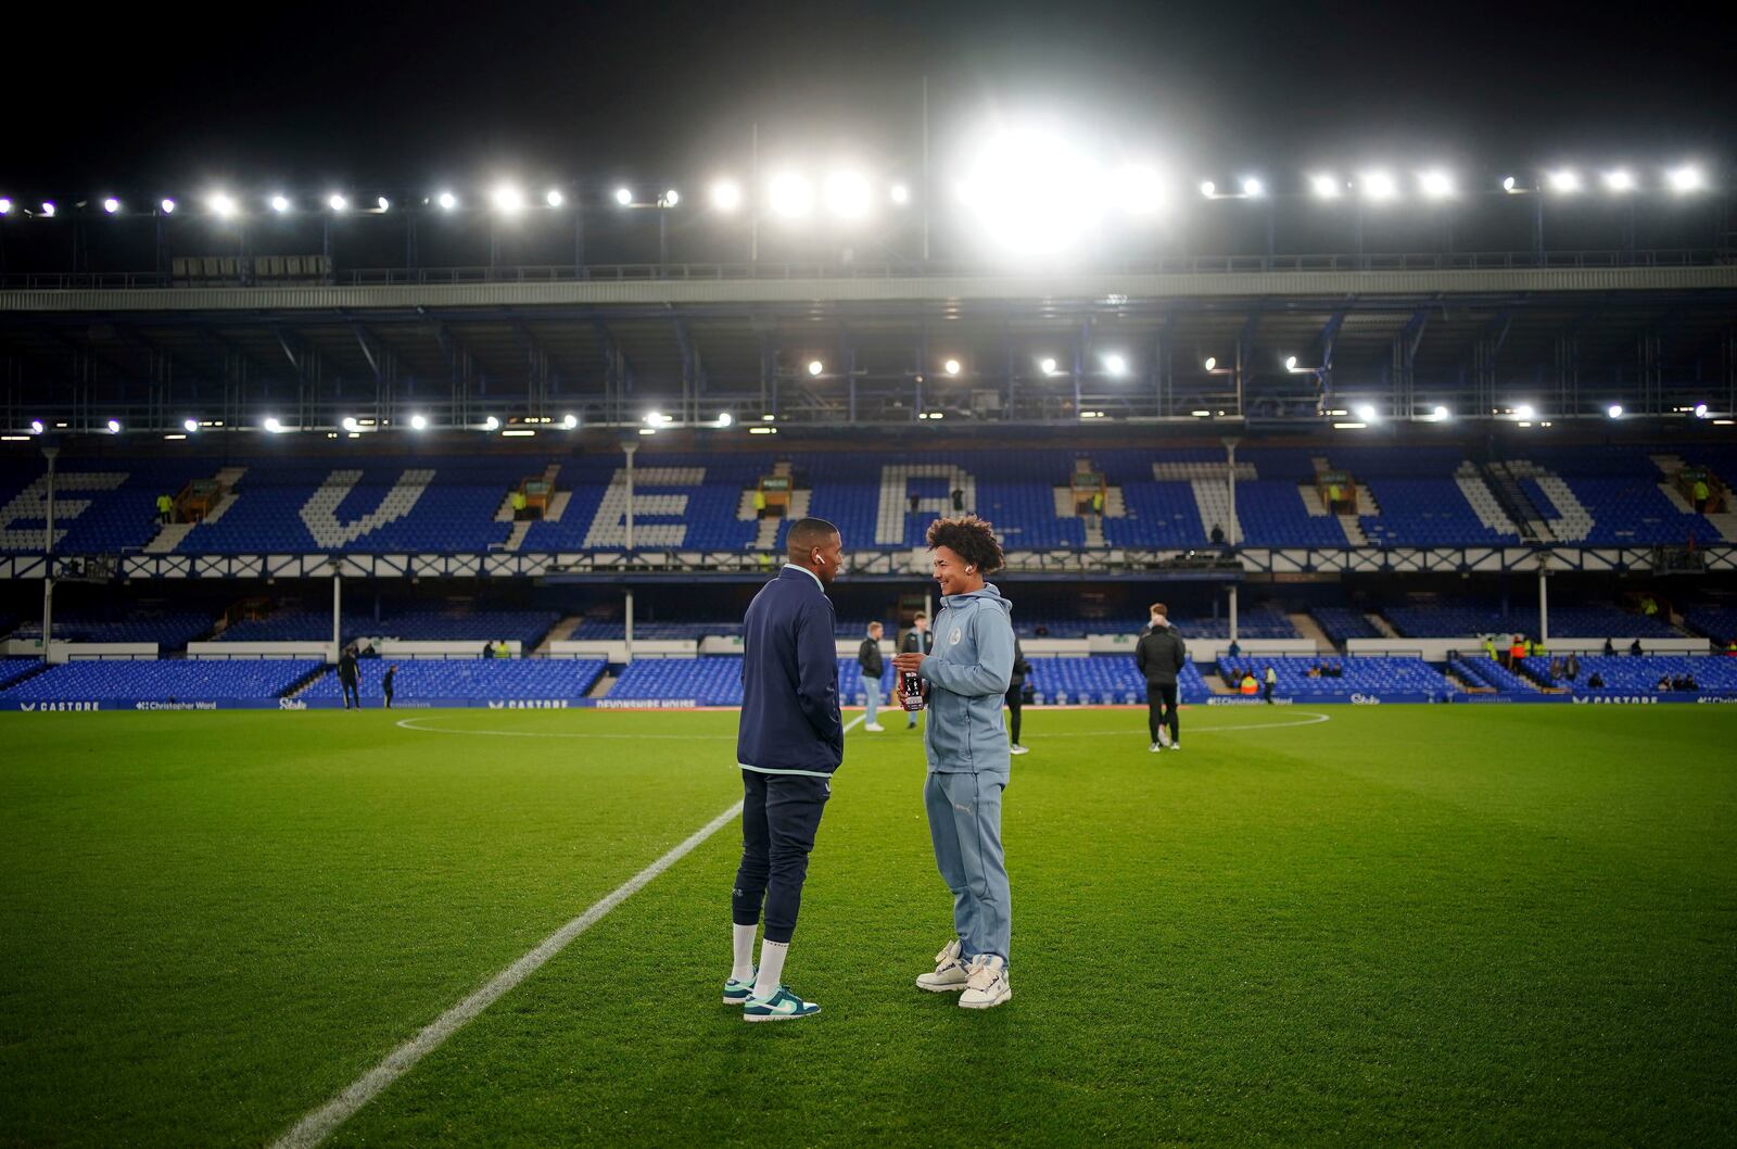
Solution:
[{"label": "curly-haired man in light blue tracksuit holding a bottle", "polygon": [[961,1006],[987,1010],[1013,996],[1013,895],[1001,848],[1011,763],[1001,704],[1013,676],[1013,607],[983,581],[1002,565],[988,523],[973,515],[938,520],[929,549],[943,594],[935,654],[900,654],[893,664],[917,671],[928,694],[924,805],[935,864],[954,893],[957,935],[917,986],[959,993]]}]

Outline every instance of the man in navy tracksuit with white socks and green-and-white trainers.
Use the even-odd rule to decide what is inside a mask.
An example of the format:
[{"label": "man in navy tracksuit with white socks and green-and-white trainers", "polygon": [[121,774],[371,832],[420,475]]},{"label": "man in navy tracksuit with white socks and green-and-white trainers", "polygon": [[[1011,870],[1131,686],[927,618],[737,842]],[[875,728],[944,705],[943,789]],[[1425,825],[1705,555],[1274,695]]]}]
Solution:
[{"label": "man in navy tracksuit with white socks and green-and-white trainers", "polygon": [[[761,588],[742,621],[742,867],[731,893],[735,961],[724,1005],[749,1022],[811,1017],[813,1001],[790,993],[783,960],[802,904],[808,853],[844,761],[839,659],[827,586],[839,572],[839,528],[823,518],[790,527],[790,561]],[[754,966],[754,932],[766,909],[766,939]]]}]

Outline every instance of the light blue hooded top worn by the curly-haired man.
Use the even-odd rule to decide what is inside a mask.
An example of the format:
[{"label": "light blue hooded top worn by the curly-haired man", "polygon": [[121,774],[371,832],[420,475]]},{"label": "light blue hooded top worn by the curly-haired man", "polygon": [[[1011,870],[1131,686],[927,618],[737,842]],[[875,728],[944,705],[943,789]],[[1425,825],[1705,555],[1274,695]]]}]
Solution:
[{"label": "light blue hooded top worn by the curly-haired man", "polygon": [[1013,678],[1013,603],[994,584],[941,598],[935,654],[922,662],[929,718],[922,744],[935,774],[1009,775],[1001,704]]}]

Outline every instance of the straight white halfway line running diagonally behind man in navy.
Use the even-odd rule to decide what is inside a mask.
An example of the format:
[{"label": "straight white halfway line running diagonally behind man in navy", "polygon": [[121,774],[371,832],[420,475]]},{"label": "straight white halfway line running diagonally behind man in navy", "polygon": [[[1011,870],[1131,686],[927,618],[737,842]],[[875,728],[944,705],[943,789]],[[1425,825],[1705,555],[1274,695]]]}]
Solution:
[{"label": "straight white halfway line running diagonally behind man in navy", "polygon": [[[849,721],[844,727],[846,734],[853,727],[856,727],[856,723],[860,723],[862,720],[863,716],[858,714],[853,721]],[[398,725],[405,723],[400,721]],[[419,727],[408,727],[408,728],[417,730]],[[499,734],[499,732],[488,730],[488,732],[464,732],[464,734]],[[554,958],[558,953],[566,949],[575,937],[594,927],[598,921],[603,920],[604,914],[608,914],[611,909],[625,902],[629,897],[646,888],[646,885],[650,885],[653,878],[662,874],[665,869],[669,869],[681,859],[688,857],[688,853],[691,853],[707,838],[710,838],[719,829],[735,820],[740,814],[742,814],[742,803],[738,801],[723,814],[719,814],[717,817],[714,817],[710,822],[702,826],[700,829],[693,831],[688,838],[672,847],[669,853],[665,853],[664,857],[651,862],[637,874],[618,885],[601,900],[592,902],[592,906],[585,913],[573,918],[559,930],[545,937],[535,949],[532,949],[528,954],[509,965],[505,970],[495,973],[495,977],[486,986],[472,993],[469,998],[452,1006],[439,1017],[436,1017],[422,1029],[422,1033],[419,1033],[410,1041],[405,1041],[396,1050],[393,1050],[386,1057],[386,1060],[382,1060],[379,1066],[356,1078],[342,1093],[339,1093],[325,1106],[320,1106],[306,1118],[297,1121],[288,1133],[273,1142],[271,1149],[313,1149],[313,1146],[323,1142],[327,1137],[332,1135],[332,1132],[339,1125],[353,1118],[356,1111],[360,1111],[370,1100],[379,1097],[386,1090],[386,1086],[389,1086],[393,1081],[410,1073],[417,1062],[420,1062],[424,1057],[438,1050],[446,1041],[446,1038],[455,1034],[467,1022],[474,1020],[483,1010],[499,1001],[509,989],[512,989],[526,977],[540,970],[544,963],[549,961],[549,958]]]}]

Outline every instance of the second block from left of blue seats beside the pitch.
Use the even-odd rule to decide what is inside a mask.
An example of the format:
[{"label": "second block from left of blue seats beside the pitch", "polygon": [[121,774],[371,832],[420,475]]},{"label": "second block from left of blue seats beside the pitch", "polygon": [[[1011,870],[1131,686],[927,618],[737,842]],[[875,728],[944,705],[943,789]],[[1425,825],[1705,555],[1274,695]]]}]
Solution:
[{"label": "second block from left of blue seats beside the pitch", "polygon": [[[356,688],[365,702],[384,697],[380,680],[387,666],[398,667],[394,702],[584,699],[606,669],[598,659],[361,659]],[[337,671],[321,674],[295,697],[342,699]]]}]

